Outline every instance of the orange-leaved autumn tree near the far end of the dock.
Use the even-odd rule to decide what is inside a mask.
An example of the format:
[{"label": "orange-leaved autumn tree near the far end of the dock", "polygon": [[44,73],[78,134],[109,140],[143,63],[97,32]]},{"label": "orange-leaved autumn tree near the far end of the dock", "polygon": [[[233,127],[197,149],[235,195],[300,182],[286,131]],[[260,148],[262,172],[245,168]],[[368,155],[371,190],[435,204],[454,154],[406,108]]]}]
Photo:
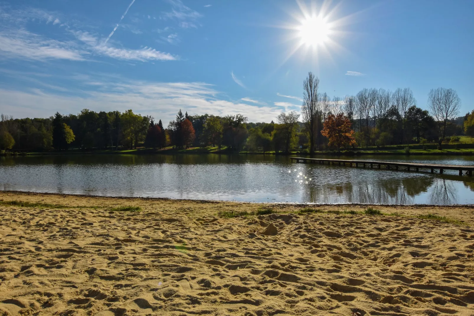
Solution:
[{"label": "orange-leaved autumn tree near the far end of the dock", "polygon": [[354,130],[351,129],[351,121],[344,113],[337,115],[329,114],[326,121],[324,121],[323,127],[321,134],[329,139],[329,146],[340,149],[347,145],[356,144]]}]

